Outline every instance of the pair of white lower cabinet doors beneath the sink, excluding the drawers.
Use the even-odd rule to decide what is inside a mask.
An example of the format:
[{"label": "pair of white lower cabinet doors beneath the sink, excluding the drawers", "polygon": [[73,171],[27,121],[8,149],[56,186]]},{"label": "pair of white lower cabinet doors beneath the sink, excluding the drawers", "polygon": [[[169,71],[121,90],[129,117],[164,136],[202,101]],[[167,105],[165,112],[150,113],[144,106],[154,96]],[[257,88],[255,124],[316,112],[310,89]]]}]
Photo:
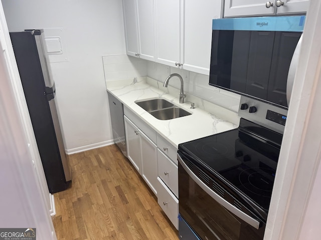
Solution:
[{"label": "pair of white lower cabinet doors beneath the sink, excluding the drawers", "polygon": [[157,146],[124,116],[128,159],[157,196]]}]

